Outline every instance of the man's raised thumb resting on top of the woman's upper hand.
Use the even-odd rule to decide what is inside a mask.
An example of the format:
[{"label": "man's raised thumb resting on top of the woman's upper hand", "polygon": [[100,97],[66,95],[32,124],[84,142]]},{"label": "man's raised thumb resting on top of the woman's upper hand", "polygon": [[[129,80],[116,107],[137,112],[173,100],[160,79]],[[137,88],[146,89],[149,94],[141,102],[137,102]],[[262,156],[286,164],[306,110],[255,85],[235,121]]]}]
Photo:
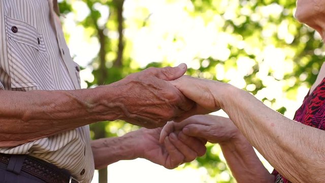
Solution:
[{"label": "man's raised thumb resting on top of the woman's upper hand", "polygon": [[161,68],[161,69],[159,69],[159,72],[157,73],[156,76],[159,79],[163,79],[166,81],[172,81],[172,80],[178,79],[181,76],[183,76],[185,74],[186,70],[187,70],[186,64],[182,63],[177,67]]}]

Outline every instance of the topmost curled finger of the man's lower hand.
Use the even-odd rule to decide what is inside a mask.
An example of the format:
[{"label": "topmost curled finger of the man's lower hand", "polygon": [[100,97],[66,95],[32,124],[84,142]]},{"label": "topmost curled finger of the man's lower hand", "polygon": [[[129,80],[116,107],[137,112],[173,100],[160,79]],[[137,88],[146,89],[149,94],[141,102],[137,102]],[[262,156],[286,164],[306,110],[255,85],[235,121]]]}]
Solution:
[{"label": "topmost curled finger of the man's lower hand", "polygon": [[211,127],[201,124],[190,124],[183,128],[182,132],[191,137],[199,137],[209,140]]}]

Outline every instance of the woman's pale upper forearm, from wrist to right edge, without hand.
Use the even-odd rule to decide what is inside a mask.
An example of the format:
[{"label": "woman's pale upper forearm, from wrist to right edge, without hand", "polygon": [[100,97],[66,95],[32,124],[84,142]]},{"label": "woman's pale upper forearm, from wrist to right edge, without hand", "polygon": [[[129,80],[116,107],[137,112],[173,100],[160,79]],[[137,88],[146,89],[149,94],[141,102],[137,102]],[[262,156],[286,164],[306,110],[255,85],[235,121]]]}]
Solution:
[{"label": "woman's pale upper forearm, from wrist to right edge, without hand", "polygon": [[[222,109],[246,139],[292,182],[323,182],[325,132],[290,120],[235,87],[225,91]],[[295,170],[295,171],[293,171]]]}]

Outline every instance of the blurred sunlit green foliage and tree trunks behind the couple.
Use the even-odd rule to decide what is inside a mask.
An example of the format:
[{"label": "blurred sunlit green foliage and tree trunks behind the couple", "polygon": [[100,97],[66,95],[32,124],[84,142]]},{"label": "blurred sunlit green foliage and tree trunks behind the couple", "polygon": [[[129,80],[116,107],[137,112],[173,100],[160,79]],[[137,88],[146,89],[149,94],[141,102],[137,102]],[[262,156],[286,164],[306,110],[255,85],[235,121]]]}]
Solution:
[{"label": "blurred sunlit green foliage and tree trunks behind the couple", "polygon": [[[186,63],[188,75],[231,83],[293,118],[322,64],[320,37],[294,19],[293,0],[59,3],[71,55],[82,67],[82,88],[109,84],[149,66]],[[92,125],[91,136],[121,136],[136,129],[107,121]],[[120,161],[108,167],[108,182],[235,182],[220,147],[207,146],[206,156],[175,170],[142,159]],[[98,179],[96,171],[92,182]]]}]

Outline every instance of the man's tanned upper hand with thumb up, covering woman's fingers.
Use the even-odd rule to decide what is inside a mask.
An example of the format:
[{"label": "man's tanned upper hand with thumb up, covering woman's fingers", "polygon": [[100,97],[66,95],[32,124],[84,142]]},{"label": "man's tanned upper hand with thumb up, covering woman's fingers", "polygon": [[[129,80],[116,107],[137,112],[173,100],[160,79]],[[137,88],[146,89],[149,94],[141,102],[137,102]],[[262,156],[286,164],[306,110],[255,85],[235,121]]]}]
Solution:
[{"label": "man's tanned upper hand with thumb up, covering woman's fingers", "polygon": [[190,110],[194,103],[168,81],[181,77],[186,65],[149,68],[117,82],[123,90],[118,101],[126,120],[134,125],[156,128]]}]

